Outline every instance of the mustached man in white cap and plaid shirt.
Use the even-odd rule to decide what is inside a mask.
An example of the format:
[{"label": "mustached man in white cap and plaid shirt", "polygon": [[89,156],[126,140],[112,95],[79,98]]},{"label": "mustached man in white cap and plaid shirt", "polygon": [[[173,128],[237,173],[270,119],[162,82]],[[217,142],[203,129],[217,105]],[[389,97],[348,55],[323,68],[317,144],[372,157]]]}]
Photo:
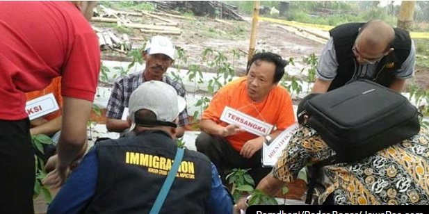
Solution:
[{"label": "mustached man in white cap and plaid shirt", "polygon": [[[124,108],[129,105],[129,96],[145,81],[163,81],[172,85],[181,97],[185,97],[183,85],[179,82],[164,76],[168,67],[174,63],[175,47],[172,42],[163,36],[154,36],[147,41],[145,51],[142,53],[146,61],[145,70],[136,74],[124,76],[122,79],[115,81],[110,99],[108,100],[106,110],[106,128],[108,131],[126,132],[129,124],[122,120]],[[162,97],[159,97],[162,99]],[[179,128],[177,137],[184,135],[184,126],[189,123],[186,108],[179,115]]]}]

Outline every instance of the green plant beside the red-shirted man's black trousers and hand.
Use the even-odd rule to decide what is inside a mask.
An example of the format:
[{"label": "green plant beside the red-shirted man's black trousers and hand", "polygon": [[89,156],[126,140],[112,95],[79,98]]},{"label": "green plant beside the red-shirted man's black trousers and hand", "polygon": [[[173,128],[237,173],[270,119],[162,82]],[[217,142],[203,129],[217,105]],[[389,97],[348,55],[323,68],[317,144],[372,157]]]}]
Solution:
[{"label": "green plant beside the red-shirted man's black trousers and hand", "polygon": [[[44,154],[43,145],[51,145],[53,144],[51,138],[47,135],[32,135],[31,142],[33,143],[33,147],[37,149],[41,154]],[[42,180],[47,175],[46,170],[44,169],[44,161],[37,155],[34,155],[35,160],[35,183],[34,183],[34,195],[33,199],[37,198],[40,194],[43,195],[44,201],[48,204],[52,201],[51,192],[49,192],[49,188],[44,186]]]}]

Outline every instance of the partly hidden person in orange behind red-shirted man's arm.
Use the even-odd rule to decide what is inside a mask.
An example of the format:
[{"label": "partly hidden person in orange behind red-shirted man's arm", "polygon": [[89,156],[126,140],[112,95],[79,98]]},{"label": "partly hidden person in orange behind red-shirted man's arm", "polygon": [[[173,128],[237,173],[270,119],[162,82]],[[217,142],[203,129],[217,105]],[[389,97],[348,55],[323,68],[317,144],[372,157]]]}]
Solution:
[{"label": "partly hidden person in orange behind red-shirted man's arm", "polygon": [[[63,108],[63,96],[61,96],[61,76],[54,78],[51,83],[44,88],[43,90],[38,90],[34,92],[27,92],[26,100],[30,101],[38,97],[52,93],[60,109],[44,115],[42,117],[35,118],[30,121],[30,134],[39,135],[44,134],[48,135],[54,145],[43,145],[44,154],[38,154],[38,156],[43,156],[43,160],[47,161],[47,158],[54,155],[56,143],[60,139],[60,130],[61,123],[63,122],[63,115],[61,115],[61,110]],[[38,150],[36,150],[38,152]]]}]

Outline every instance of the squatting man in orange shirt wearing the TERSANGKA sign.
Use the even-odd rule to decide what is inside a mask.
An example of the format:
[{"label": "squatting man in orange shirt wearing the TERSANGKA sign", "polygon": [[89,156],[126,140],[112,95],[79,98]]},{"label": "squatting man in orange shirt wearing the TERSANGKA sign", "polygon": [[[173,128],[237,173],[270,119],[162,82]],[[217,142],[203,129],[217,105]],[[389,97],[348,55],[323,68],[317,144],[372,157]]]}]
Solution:
[{"label": "squatting man in orange shirt wearing the TERSANGKA sign", "polygon": [[[262,145],[295,122],[291,97],[277,85],[285,66],[286,62],[275,53],[255,54],[248,63],[248,75],[220,88],[202,113],[202,132],[195,145],[218,167],[224,182],[226,173],[233,168],[251,168],[249,174],[255,182],[270,172],[270,167],[261,164]],[[231,117],[234,121],[229,123],[221,119],[227,109],[236,112]],[[246,127],[248,121],[260,121],[260,126],[274,125],[276,129],[250,133],[252,126],[259,125]],[[250,129],[243,131],[246,128]]]}]

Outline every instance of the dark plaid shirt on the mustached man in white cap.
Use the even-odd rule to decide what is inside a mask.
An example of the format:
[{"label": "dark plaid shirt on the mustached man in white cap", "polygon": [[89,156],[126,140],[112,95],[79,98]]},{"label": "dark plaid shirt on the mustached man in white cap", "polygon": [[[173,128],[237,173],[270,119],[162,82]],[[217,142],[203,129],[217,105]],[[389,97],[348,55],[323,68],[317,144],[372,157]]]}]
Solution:
[{"label": "dark plaid shirt on the mustached man in white cap", "polygon": [[[163,76],[162,81],[171,85],[177,91],[179,96],[185,98],[185,90],[183,85],[179,82],[172,80],[168,76]],[[143,72],[130,74],[129,76],[124,76],[123,78],[115,81],[113,85],[113,90],[110,99],[108,100],[106,117],[121,119],[122,114],[124,113],[124,108],[128,108],[129,97],[131,93],[138,88],[145,79],[143,79]],[[188,112],[185,108],[179,114],[179,126],[186,126],[189,124]]]}]

